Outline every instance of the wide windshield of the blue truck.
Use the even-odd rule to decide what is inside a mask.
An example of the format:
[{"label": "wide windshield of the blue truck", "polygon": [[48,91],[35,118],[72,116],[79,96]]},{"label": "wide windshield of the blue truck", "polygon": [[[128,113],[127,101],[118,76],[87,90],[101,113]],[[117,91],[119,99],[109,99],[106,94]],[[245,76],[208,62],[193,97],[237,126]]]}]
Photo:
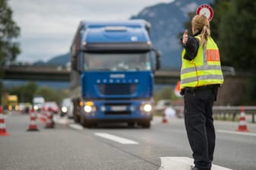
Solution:
[{"label": "wide windshield of the blue truck", "polygon": [[85,71],[150,71],[150,52],[88,53],[84,52]]}]

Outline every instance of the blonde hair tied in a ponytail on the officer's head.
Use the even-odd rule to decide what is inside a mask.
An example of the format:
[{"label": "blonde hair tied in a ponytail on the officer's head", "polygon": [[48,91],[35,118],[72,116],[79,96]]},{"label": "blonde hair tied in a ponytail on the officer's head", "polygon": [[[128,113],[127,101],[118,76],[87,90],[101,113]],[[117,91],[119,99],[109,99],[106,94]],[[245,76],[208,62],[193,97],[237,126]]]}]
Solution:
[{"label": "blonde hair tied in a ponytail on the officer's head", "polygon": [[201,38],[200,44],[202,44],[203,47],[205,47],[208,36],[210,36],[209,20],[203,14],[196,15],[192,19],[192,27],[194,27],[194,30],[196,31],[202,30],[201,33],[199,34]]}]

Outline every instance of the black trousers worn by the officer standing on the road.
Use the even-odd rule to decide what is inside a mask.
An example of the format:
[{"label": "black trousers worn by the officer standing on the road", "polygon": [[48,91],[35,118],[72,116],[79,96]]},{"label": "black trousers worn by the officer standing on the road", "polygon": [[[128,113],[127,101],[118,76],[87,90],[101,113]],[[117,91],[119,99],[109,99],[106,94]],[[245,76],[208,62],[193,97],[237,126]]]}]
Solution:
[{"label": "black trousers worn by the officer standing on the road", "polygon": [[184,121],[193,152],[194,164],[200,170],[210,170],[215,148],[213,102],[210,88],[184,91]]}]

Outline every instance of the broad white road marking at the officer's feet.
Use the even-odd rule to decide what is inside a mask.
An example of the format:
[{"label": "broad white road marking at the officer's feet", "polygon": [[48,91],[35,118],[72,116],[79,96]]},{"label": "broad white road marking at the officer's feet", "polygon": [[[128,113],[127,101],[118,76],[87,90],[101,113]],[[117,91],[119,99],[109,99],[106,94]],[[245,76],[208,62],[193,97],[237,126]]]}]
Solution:
[{"label": "broad white road marking at the officer's feet", "polygon": [[[158,170],[190,170],[194,159],[188,157],[160,157],[161,167]],[[212,165],[212,170],[232,170],[219,165]]]}]

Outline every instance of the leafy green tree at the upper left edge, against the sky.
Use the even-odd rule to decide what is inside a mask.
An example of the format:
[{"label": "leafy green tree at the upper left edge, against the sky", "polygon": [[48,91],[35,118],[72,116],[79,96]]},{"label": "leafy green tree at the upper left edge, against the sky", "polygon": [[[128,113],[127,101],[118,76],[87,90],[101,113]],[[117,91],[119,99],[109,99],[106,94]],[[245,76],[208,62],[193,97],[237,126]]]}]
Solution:
[{"label": "leafy green tree at the upper left edge, against the sky", "polygon": [[7,61],[14,61],[21,52],[16,38],[20,35],[20,28],[12,20],[12,11],[8,1],[0,0],[0,67]]}]

